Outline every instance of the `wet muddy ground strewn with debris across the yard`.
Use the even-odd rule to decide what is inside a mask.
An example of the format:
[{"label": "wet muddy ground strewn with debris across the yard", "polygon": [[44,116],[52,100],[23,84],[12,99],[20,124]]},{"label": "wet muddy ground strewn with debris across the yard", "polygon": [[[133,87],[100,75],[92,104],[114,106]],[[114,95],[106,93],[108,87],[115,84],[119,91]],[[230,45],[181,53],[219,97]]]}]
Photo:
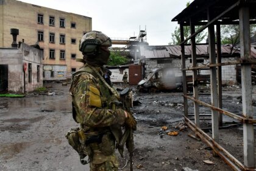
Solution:
[{"label": "wet muddy ground strewn with debris across the yard", "polygon": [[[0,170],[89,170],[88,165],[80,164],[79,156],[65,138],[70,128],[78,127],[71,116],[69,85],[48,83],[46,86],[55,94],[29,93],[24,98],[0,98]],[[212,150],[204,142],[188,136],[193,134],[190,128],[182,131],[175,128],[183,120],[180,92],[147,94],[138,93],[134,87],[133,91],[134,99],[141,102],[133,108],[138,120],[133,170],[231,170],[221,158],[213,157]],[[200,89],[204,94],[200,96],[202,101],[210,103],[209,91],[207,87]],[[224,87],[224,110],[241,114],[240,96],[239,86]],[[193,114],[193,103],[188,105]],[[200,113],[210,114],[211,111],[200,106]],[[224,125],[236,123],[227,117],[223,120]],[[201,120],[201,125],[211,127],[208,120]],[[166,132],[175,130],[179,134],[159,135],[163,126],[168,127]],[[211,130],[207,133],[210,135]],[[243,162],[242,125],[221,129],[220,144]],[[205,164],[206,160],[213,164]],[[120,167],[126,166],[126,159],[119,158],[119,161]],[[119,170],[129,170],[129,164]]]}]

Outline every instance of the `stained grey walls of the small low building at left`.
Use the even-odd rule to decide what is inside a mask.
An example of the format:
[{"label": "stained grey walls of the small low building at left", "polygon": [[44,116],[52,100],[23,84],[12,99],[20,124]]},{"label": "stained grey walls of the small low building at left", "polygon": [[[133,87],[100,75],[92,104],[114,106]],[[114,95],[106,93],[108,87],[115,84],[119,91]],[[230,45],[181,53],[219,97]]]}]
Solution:
[{"label": "stained grey walls of the small low building at left", "polygon": [[[41,64],[42,52],[34,47],[22,43],[20,49],[1,48],[0,64],[8,66],[8,91],[15,93],[24,92],[23,65],[32,64],[32,82],[29,83],[28,69],[25,72],[26,92],[34,91],[43,86],[43,65]],[[40,79],[37,82],[37,66],[40,68]]]}]

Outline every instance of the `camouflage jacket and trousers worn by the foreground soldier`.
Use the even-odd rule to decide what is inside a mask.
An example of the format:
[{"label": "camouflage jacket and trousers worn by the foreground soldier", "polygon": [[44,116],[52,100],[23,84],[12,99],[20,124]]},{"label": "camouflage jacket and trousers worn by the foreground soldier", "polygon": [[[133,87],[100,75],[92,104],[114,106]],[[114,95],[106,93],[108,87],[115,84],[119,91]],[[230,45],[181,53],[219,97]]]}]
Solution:
[{"label": "camouflage jacket and trousers worn by the foreground soldier", "polygon": [[[87,147],[88,156],[91,156],[90,170],[117,170],[115,141],[121,138],[119,131],[124,124],[125,113],[115,105],[117,97],[92,68],[104,75],[103,68],[88,64],[73,75],[70,88],[76,111],[73,117],[80,123],[87,137],[91,133],[101,135],[101,141],[90,143]],[[116,127],[119,134],[113,134],[112,127]]]}]

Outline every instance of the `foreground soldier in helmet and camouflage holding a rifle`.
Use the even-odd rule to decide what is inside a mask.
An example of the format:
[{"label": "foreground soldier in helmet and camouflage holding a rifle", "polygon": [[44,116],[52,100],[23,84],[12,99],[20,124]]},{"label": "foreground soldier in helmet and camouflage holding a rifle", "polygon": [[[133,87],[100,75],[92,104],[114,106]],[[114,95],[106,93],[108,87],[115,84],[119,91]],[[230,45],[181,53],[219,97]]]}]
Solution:
[{"label": "foreground soldier in helmet and camouflage holding a rifle", "polygon": [[82,37],[79,50],[85,65],[73,74],[69,89],[73,118],[84,133],[91,171],[118,170],[115,147],[122,136],[121,126],[135,130],[137,124],[132,114],[119,106],[118,92],[104,80],[103,65],[110,56],[110,46],[110,38],[102,32],[91,31]]}]

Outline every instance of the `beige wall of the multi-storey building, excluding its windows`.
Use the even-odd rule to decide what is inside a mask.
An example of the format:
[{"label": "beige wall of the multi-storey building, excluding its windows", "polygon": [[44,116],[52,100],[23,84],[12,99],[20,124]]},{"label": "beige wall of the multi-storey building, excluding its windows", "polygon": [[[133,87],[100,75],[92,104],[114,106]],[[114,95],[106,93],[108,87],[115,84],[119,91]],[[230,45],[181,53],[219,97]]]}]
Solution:
[{"label": "beige wall of the multi-storey building, excluding its windows", "polygon": [[[43,15],[43,24],[37,23],[38,13]],[[49,16],[54,16],[55,26],[49,26]],[[65,19],[65,28],[60,28],[60,18]],[[71,22],[76,23],[76,29],[71,28]],[[79,40],[84,32],[92,29],[92,19],[20,1],[0,0],[0,47],[9,47],[12,43],[12,28],[20,30],[17,41],[24,39],[26,44],[39,44],[44,51],[43,64],[66,65],[66,72],[71,75],[71,68],[79,69],[82,66],[82,63],[71,59],[71,54],[82,58]],[[38,31],[44,32],[44,41],[38,42]],[[55,43],[49,43],[50,32],[55,33]],[[65,34],[65,44],[60,44],[60,34]],[[71,38],[76,39],[76,44],[71,44]],[[49,58],[49,49],[55,49],[55,59]],[[60,50],[65,50],[65,60],[60,60]]]}]

